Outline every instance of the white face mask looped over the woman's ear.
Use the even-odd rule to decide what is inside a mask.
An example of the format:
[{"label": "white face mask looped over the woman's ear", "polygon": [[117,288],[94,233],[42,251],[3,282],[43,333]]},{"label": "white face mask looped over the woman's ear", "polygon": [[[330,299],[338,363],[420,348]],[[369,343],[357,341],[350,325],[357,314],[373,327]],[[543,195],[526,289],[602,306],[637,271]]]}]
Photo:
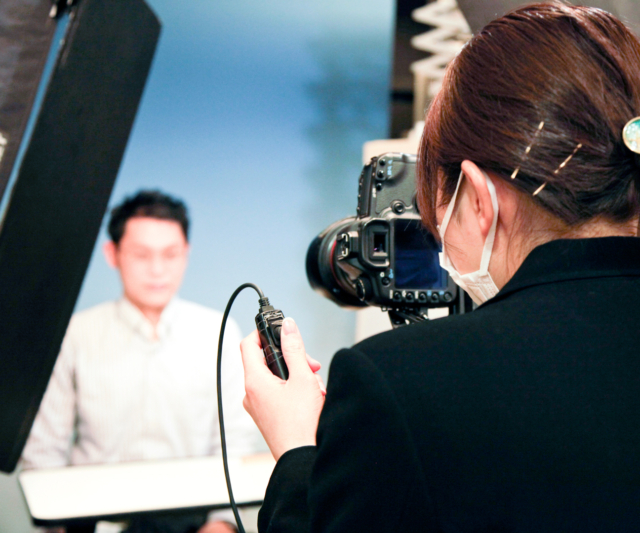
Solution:
[{"label": "white face mask looped over the woman's ear", "polygon": [[489,261],[491,260],[491,251],[493,250],[493,241],[496,236],[496,226],[498,224],[498,195],[496,194],[496,188],[494,187],[491,178],[489,178],[484,171],[482,171],[482,174],[484,174],[484,177],[487,180],[487,187],[489,188],[489,194],[491,195],[491,203],[493,205],[493,222],[491,223],[487,240],[485,241],[484,248],[482,249],[480,268],[475,272],[470,272],[469,274],[460,274],[455,269],[451,259],[447,255],[447,248],[444,244],[444,234],[446,233],[447,226],[451,220],[451,215],[453,214],[453,209],[456,205],[458,190],[460,189],[460,183],[462,183],[462,177],[464,175],[462,172],[460,172],[460,177],[458,178],[456,192],[453,193],[453,198],[451,198],[451,202],[444,214],[442,224],[438,228],[438,231],[440,232],[440,240],[442,241],[442,252],[439,254],[440,266],[449,272],[451,279],[453,279],[456,285],[465,290],[477,305],[486,302],[498,294],[498,287],[493,282],[491,274],[489,274]]}]

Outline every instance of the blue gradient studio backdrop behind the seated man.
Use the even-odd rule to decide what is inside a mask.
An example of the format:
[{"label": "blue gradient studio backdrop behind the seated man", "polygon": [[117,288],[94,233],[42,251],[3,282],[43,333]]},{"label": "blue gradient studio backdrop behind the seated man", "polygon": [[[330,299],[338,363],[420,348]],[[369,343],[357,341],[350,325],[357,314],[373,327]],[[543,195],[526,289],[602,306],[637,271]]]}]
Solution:
[{"label": "blue gradient studio backdrop behind the seated man", "polygon": [[[222,310],[258,284],[296,319],[326,372],[354,316],[314,293],[314,236],[355,214],[362,144],[386,138],[392,0],[147,0],[163,29],[110,205],[159,188],[191,211],[181,297]],[[119,297],[103,227],[76,311]],[[257,298],[232,316],[255,326]],[[215,354],[212,354],[214,357]],[[0,531],[32,531],[16,477],[0,475]]]}]

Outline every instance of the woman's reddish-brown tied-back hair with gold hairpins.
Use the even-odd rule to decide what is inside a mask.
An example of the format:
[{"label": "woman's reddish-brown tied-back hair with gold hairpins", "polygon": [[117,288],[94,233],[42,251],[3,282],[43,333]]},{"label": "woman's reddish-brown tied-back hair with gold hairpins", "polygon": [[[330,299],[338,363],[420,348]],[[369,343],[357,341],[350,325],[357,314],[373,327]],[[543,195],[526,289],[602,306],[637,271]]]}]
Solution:
[{"label": "woman's reddish-brown tied-back hair with gold hairpins", "polygon": [[622,22],[562,2],[512,11],[467,43],[427,113],[418,164],[425,225],[436,233],[438,188],[448,203],[465,159],[568,227],[630,220],[640,163],[622,129],[638,115],[640,42]]}]

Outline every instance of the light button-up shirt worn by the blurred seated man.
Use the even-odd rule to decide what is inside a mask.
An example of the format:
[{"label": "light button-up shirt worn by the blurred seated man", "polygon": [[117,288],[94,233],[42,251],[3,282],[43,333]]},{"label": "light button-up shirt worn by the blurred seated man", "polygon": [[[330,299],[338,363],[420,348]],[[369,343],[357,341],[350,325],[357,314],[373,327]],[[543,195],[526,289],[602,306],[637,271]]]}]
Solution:
[{"label": "light button-up shirt worn by the blurred seated man", "polygon": [[[174,298],[152,324],[128,300],[73,316],[23,452],[23,468],[220,453],[216,351],[222,314]],[[222,390],[230,455],[255,452],[242,407],[240,330],[225,331]]]}]

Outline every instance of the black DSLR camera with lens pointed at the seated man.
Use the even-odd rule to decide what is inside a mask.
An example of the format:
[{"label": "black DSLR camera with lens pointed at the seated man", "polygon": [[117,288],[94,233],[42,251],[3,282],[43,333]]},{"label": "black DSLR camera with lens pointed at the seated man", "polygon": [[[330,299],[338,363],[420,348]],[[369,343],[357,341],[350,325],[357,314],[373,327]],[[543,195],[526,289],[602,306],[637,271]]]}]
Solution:
[{"label": "black DSLR camera with lens pointed at the seated man", "polygon": [[394,326],[426,320],[429,308],[471,309],[422,227],[415,181],[415,155],[386,153],[364,166],[356,216],[334,222],[309,246],[314,290],[344,307],[381,307]]}]

